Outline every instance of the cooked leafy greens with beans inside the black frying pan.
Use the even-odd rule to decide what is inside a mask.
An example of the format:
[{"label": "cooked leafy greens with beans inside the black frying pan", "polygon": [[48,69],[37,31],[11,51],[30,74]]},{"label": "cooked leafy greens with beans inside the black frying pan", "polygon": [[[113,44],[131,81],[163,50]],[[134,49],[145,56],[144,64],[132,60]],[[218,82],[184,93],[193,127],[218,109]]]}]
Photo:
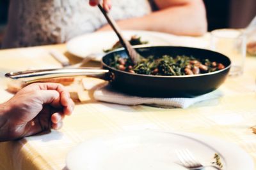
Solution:
[{"label": "cooked leafy greens with beans inside the black frying pan", "polygon": [[210,73],[224,69],[225,66],[209,59],[197,59],[193,56],[170,55],[149,56],[143,58],[138,64],[133,66],[131,59],[124,59],[120,55],[115,55],[109,66],[121,71],[137,74],[151,74],[161,76],[181,76]]}]

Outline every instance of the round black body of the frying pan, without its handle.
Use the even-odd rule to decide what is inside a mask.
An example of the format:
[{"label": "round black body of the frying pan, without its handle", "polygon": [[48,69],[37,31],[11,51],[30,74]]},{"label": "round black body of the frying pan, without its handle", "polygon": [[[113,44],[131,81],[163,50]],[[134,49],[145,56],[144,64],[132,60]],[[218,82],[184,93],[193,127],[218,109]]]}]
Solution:
[{"label": "round black body of the frying pan, without its handle", "polygon": [[189,48],[181,46],[150,46],[138,47],[136,51],[141,56],[149,55],[188,55],[200,59],[210,59],[220,62],[225,69],[212,73],[188,75],[188,76],[153,76],[144,74],[132,74],[109,67],[111,58],[115,55],[127,57],[124,50],[107,53],[102,58],[102,66],[108,69],[111,75],[111,85],[116,89],[137,96],[148,97],[194,97],[218,89],[225,81],[230,70],[230,59],[225,55],[210,50]]}]

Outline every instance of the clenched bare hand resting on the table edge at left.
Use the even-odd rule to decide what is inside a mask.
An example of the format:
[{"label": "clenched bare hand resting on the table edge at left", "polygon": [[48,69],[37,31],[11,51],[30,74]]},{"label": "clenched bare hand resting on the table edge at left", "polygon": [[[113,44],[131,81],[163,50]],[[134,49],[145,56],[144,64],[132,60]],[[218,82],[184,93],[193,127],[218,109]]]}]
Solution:
[{"label": "clenched bare hand resting on the table edge at left", "polygon": [[69,93],[59,83],[33,83],[0,104],[0,141],[60,129],[74,110]]}]

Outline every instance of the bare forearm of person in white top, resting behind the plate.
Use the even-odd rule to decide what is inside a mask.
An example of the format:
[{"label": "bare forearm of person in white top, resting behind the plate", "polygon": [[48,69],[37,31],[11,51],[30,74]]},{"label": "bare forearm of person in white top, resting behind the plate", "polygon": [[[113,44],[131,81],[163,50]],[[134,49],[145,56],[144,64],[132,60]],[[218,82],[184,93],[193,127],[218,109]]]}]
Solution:
[{"label": "bare forearm of person in white top, resting behind the plate", "polygon": [[[207,31],[204,4],[182,4],[164,8],[140,18],[118,21],[122,29],[168,32],[199,36]],[[109,26],[101,30],[109,29]]]}]

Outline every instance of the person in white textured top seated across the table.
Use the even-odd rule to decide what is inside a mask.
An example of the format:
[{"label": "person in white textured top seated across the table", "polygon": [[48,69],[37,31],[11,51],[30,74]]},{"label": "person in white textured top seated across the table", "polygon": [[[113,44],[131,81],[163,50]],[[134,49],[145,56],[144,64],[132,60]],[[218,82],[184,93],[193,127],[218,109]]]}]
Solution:
[{"label": "person in white textured top seated across the table", "polygon": [[[75,36],[110,30],[89,0],[12,0],[3,48],[65,43]],[[106,2],[105,2],[106,1]],[[207,30],[202,0],[105,0],[121,29],[198,36]],[[98,2],[90,0],[91,5]],[[109,10],[109,9],[107,9]]]}]

